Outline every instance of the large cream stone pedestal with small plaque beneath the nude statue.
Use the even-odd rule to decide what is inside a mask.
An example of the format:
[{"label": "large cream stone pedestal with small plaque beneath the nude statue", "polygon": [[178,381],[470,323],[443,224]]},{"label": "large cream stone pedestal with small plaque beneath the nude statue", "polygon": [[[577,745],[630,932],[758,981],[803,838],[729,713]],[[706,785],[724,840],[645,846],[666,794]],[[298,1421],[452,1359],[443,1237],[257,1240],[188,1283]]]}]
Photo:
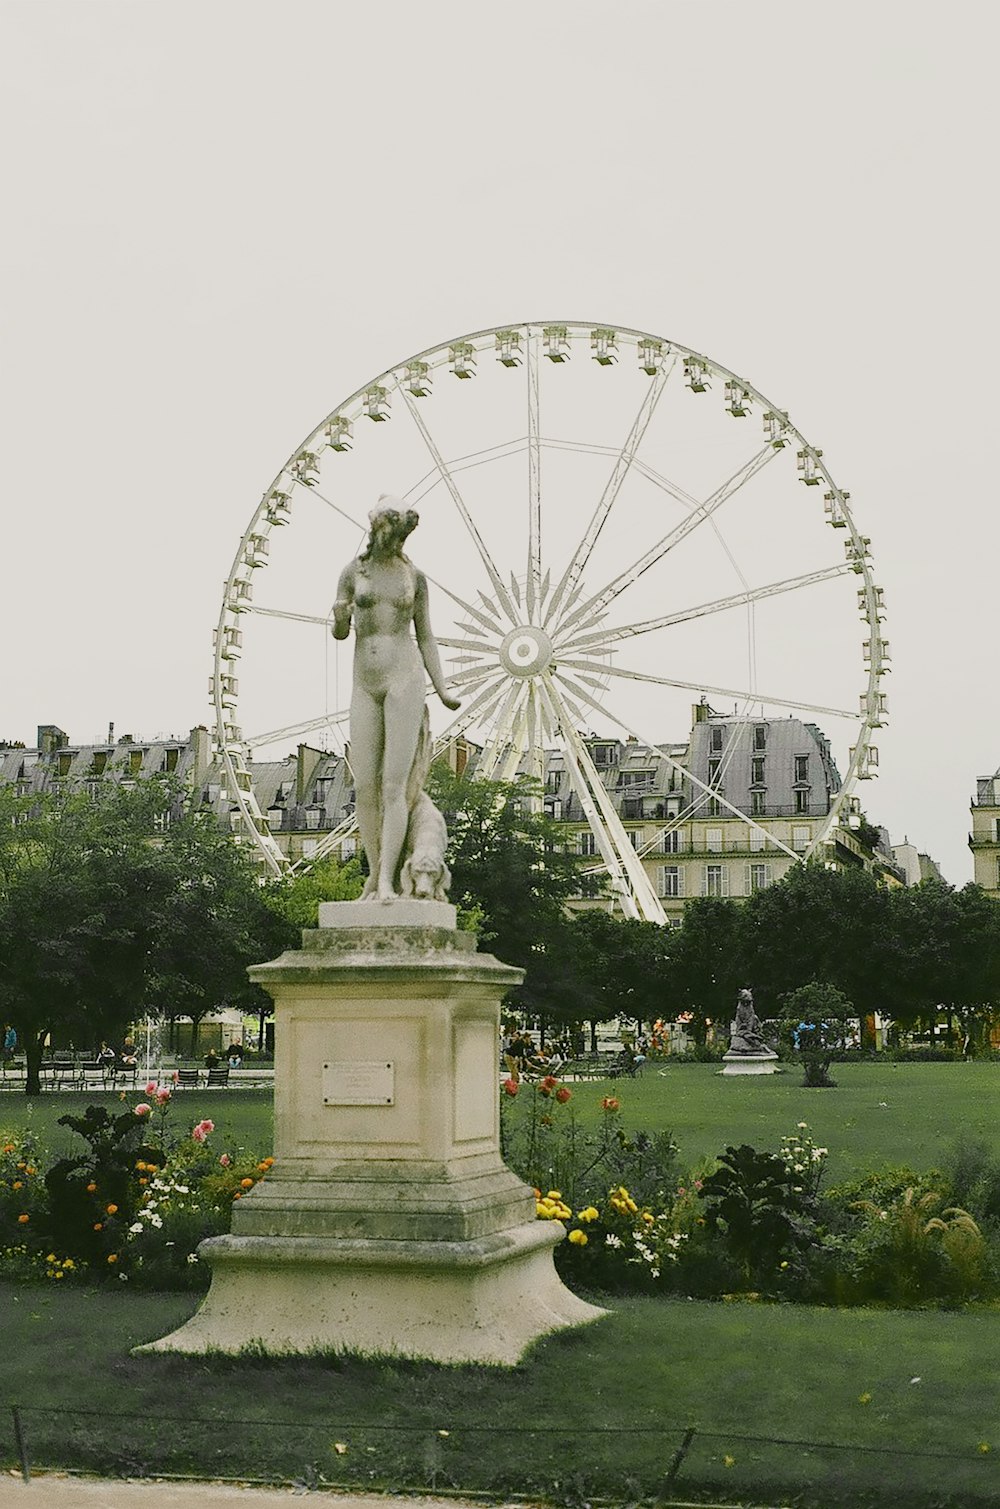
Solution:
[{"label": "large cream stone pedestal with small plaque beneath the nude statue", "polygon": [[593,1320],[560,1281],[558,1222],[499,1156],[499,1000],[443,902],[327,902],[250,970],[275,997],[275,1166],[199,1255],[211,1289],[140,1351],[336,1348],[516,1363]]}]

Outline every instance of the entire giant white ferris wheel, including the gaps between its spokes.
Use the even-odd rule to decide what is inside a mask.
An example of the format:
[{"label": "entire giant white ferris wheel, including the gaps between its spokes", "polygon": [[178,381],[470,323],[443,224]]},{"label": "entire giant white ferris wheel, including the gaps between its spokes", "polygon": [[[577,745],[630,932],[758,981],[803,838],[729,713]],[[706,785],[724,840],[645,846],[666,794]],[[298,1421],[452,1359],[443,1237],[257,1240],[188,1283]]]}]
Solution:
[{"label": "entire giant white ferris wheel, including the gaps between its spokes", "polygon": [[[275,874],[290,860],[253,762],[306,736],[345,748],[350,664],[330,637],[332,605],[382,493],[421,515],[410,548],[463,703],[446,721],[433,699],[439,745],[466,735],[483,750],[477,774],[496,779],[541,777],[546,751],[561,751],[627,916],[662,922],[664,910],[591,759],[593,730],[680,771],[668,741],[683,738],[692,697],[732,705],[736,720],[821,720],[843,777],[808,848],[787,848],[796,860],[876,774],[882,589],[822,450],[750,382],[677,341],[513,324],[410,356],[338,403],[240,540],[214,634],[216,741]],[[718,783],[686,768],[683,779],[680,819],[712,800],[759,827]],[[351,828],[347,816],[311,862]]]}]

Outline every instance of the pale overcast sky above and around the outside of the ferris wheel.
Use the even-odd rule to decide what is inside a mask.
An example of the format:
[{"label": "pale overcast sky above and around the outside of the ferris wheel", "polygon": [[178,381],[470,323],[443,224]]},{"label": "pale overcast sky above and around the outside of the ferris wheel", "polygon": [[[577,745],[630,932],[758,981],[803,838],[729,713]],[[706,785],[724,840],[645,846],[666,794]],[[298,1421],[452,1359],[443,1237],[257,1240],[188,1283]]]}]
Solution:
[{"label": "pale overcast sky above and around the outside of the ferris wheel", "polygon": [[208,721],[222,582],[323,415],[469,330],[606,321],[824,448],[888,608],[860,795],[971,878],[995,8],[8,0],[0,32],[2,736]]}]

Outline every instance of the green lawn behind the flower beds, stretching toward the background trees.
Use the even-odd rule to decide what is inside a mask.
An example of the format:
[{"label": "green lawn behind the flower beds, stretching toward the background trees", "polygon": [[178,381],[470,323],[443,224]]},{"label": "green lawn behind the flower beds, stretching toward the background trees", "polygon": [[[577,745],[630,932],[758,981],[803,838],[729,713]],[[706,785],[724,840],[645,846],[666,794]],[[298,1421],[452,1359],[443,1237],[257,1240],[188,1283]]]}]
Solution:
[{"label": "green lawn behind the flower beds, stretching toward the background trees", "polygon": [[[798,1121],[830,1148],[828,1182],[879,1166],[908,1163],[916,1169],[941,1162],[959,1135],[1000,1145],[1000,1064],[839,1064],[836,1089],[805,1089],[801,1073],[789,1068],[766,1077],[725,1079],[715,1064],[650,1064],[640,1079],[591,1080],[572,1085],[570,1108],[585,1120],[600,1115],[602,1096],[621,1100],[626,1126],[668,1129],[680,1145],[680,1165],[712,1157],[727,1142],[777,1148]],[[0,1130],[30,1124],[51,1147],[65,1147],[71,1133],[56,1126],[66,1112],[80,1114],[87,1100],[116,1097],[80,1094],[20,1094],[0,1097]],[[523,1115],[526,1097],[508,1103]],[[566,1111],[560,1111],[564,1115]],[[204,1115],[217,1126],[216,1141],[271,1151],[271,1096],[267,1089],[183,1091],[175,1097],[175,1124]]]}]

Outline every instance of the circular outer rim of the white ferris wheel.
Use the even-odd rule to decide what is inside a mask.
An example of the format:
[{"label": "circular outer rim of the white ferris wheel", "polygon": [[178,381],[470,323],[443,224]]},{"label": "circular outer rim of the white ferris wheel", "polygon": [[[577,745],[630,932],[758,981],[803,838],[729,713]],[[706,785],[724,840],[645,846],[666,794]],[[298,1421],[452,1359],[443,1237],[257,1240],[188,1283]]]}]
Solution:
[{"label": "circular outer rim of the white ferris wheel", "polygon": [[[225,582],[223,602],[222,602],[222,608],[220,608],[220,614],[219,614],[219,622],[217,622],[217,628],[216,628],[216,656],[214,656],[214,676],[213,676],[213,700],[214,700],[214,708],[216,708],[216,739],[217,739],[217,753],[222,758],[222,764],[223,764],[223,770],[225,770],[226,779],[232,785],[232,795],[234,795],[234,798],[237,801],[237,806],[240,809],[241,819],[243,819],[244,825],[253,834],[258,848],[262,851],[262,857],[264,857],[265,863],[268,865],[268,868],[275,874],[281,874],[282,871],[285,871],[285,869],[288,869],[291,866],[290,866],[290,862],[285,860],[285,856],[279,850],[278,844],[271,839],[270,831],[267,830],[267,824],[262,821],[262,815],[259,812],[259,807],[256,807],[256,801],[255,801],[253,794],[250,791],[250,782],[247,779],[247,771],[246,771],[246,759],[244,759],[244,751],[243,751],[244,741],[241,739],[241,736],[232,738],[229,735],[229,732],[228,732],[229,727],[231,727],[231,721],[232,721],[231,717],[229,717],[229,711],[235,705],[234,703],[226,703],[225,702],[225,696],[223,696],[223,675],[225,675],[225,655],[223,655],[223,649],[225,649],[225,644],[226,644],[226,631],[231,628],[231,622],[228,619],[228,614],[232,611],[232,601],[234,601],[232,595],[235,592],[237,582],[246,579],[241,575],[241,572],[244,569],[246,552],[247,552],[247,548],[249,548],[250,542],[253,539],[259,539],[259,537],[264,537],[264,539],[270,537],[270,531],[275,527],[276,521],[273,521],[273,519],[270,519],[267,516],[268,501],[273,499],[276,495],[281,496],[285,486],[288,486],[291,489],[291,487],[296,486],[296,481],[302,480],[302,478],[293,477],[291,468],[296,465],[296,462],[303,454],[309,454],[309,448],[315,444],[317,438],[320,435],[323,435],[324,430],[330,424],[333,424],[335,421],[342,420],[348,412],[351,412],[354,416],[359,416],[360,412],[362,412],[362,404],[365,401],[365,397],[373,389],[379,389],[382,386],[386,386],[386,388],[392,386],[392,389],[395,392],[403,391],[401,389],[403,374],[407,370],[412,370],[415,367],[415,364],[425,362],[425,364],[428,364],[428,367],[431,364],[434,364],[434,365],[443,365],[443,362],[446,362],[449,359],[449,353],[454,353],[456,349],[462,349],[462,347],[478,349],[477,343],[483,343],[483,344],[490,343],[490,341],[498,343],[498,340],[501,337],[511,335],[511,333],[516,333],[519,338],[523,335],[523,338],[525,338],[525,347],[522,347],[522,355],[523,355],[525,352],[529,352],[532,349],[532,340],[531,340],[532,335],[540,337],[544,332],[549,332],[552,329],[563,329],[567,333],[567,338],[570,337],[570,333],[572,333],[572,337],[581,337],[581,335],[590,333],[590,337],[593,338],[597,332],[603,332],[603,333],[609,333],[615,340],[621,340],[624,343],[637,343],[637,344],[638,343],[653,343],[658,347],[658,350],[662,352],[664,358],[667,355],[670,355],[670,356],[674,358],[674,362],[677,361],[677,358],[680,358],[685,362],[691,361],[691,362],[695,362],[695,364],[703,364],[704,371],[710,373],[713,377],[722,379],[725,383],[736,383],[736,385],[739,385],[741,392],[745,395],[745,398],[750,403],[759,404],[762,409],[765,409],[765,412],[769,416],[777,416],[780,420],[781,436],[784,438],[783,444],[796,444],[796,445],[799,445],[801,447],[799,454],[805,453],[805,456],[808,457],[810,465],[811,465],[811,468],[813,468],[817,480],[822,478],[822,483],[825,483],[825,486],[830,489],[830,493],[833,493],[833,496],[836,499],[836,507],[837,507],[840,519],[842,519],[842,527],[846,528],[846,531],[848,531],[848,540],[851,542],[851,546],[854,549],[854,563],[852,563],[851,569],[855,570],[861,576],[861,579],[863,579],[863,587],[861,587],[861,592],[858,593],[858,598],[860,598],[861,617],[867,622],[869,629],[870,629],[870,640],[867,643],[869,643],[869,646],[875,646],[876,649],[869,656],[867,688],[866,688],[866,691],[863,694],[863,699],[861,699],[861,702],[863,702],[863,711],[861,711],[861,715],[860,715],[860,720],[858,720],[860,721],[860,730],[858,730],[858,735],[857,735],[857,742],[855,742],[855,745],[851,750],[848,768],[846,768],[846,773],[845,773],[845,776],[842,779],[840,789],[837,792],[831,794],[830,810],[828,810],[828,815],[827,815],[827,821],[824,824],[821,824],[821,831],[817,833],[814,842],[810,844],[810,850],[808,850],[810,854],[822,842],[825,842],[825,839],[828,837],[830,831],[839,822],[840,813],[843,810],[843,806],[845,806],[848,797],[851,795],[851,792],[854,791],[854,785],[861,777],[861,765],[863,765],[864,759],[867,758],[867,751],[869,751],[869,747],[870,747],[872,730],[875,727],[879,727],[881,723],[882,723],[882,702],[884,702],[884,697],[879,693],[879,679],[881,679],[881,675],[884,673],[884,665],[882,665],[882,659],[881,659],[881,649],[884,646],[884,640],[881,637],[881,629],[879,629],[879,623],[882,620],[882,602],[881,602],[882,593],[881,593],[881,589],[875,585],[875,578],[873,578],[872,566],[870,566],[870,554],[867,551],[867,545],[870,542],[867,540],[867,537],[864,537],[864,536],[861,536],[858,533],[857,524],[854,521],[852,510],[851,510],[849,502],[848,502],[849,493],[845,493],[836,484],[833,475],[830,474],[830,471],[828,471],[828,468],[827,468],[827,465],[825,465],[825,462],[822,459],[822,451],[817,450],[816,447],[810,445],[810,442],[805,439],[805,436],[802,435],[802,432],[798,430],[798,427],[795,424],[792,424],[792,421],[789,420],[789,415],[787,415],[786,410],[777,409],[777,406],[774,406],[772,401],[759,388],[756,388],[753,383],[750,383],[745,379],[742,379],[733,370],[724,367],[721,362],[718,362],[713,358],[707,356],[706,353],[697,352],[694,347],[689,347],[689,346],[686,346],[683,343],[679,343],[679,341],[676,341],[673,338],[652,335],[650,332],[633,329],[633,327],[626,327],[626,326],[612,326],[612,324],[599,326],[599,324],[594,324],[593,321],[581,321],[581,320],[517,321],[517,323],[511,323],[511,324],[489,326],[489,327],[484,327],[481,330],[475,330],[475,332],[471,332],[471,333],[466,333],[466,335],[452,337],[452,338],[449,338],[446,341],[436,343],[434,346],[425,347],[424,350],[418,352],[416,355],[407,356],[403,361],[395,362],[394,365],[385,368],[379,376],[376,376],[374,379],[370,379],[360,388],[354,389],[353,394],[350,394],[345,400],[342,400],[332,410],[329,410],[329,413],[317,426],[314,426],[312,430],[309,430],[309,433],[305,436],[305,439],[300,442],[300,445],[296,450],[293,450],[293,453],[290,454],[288,460],[282,465],[282,468],[278,471],[278,474],[275,475],[275,478],[270,483],[270,486],[264,490],[264,493],[261,496],[261,501],[256,506],[256,509],[255,509],[255,512],[253,512],[253,515],[250,518],[250,524],[247,525],[247,528],[244,530],[244,533],[243,533],[243,536],[240,539],[240,545],[237,548],[232,567],[231,567],[229,575],[228,575],[226,582]],[[534,341],[534,350],[535,350],[535,361],[537,361],[537,340]],[[410,401],[410,398],[409,398],[409,395],[406,392],[403,392],[403,397],[410,404],[410,407],[413,407],[412,401]],[[532,438],[531,438],[531,435],[528,435],[528,438],[523,441],[523,445],[522,445],[520,439],[516,441],[516,442],[508,442],[508,444],[510,445],[516,444],[517,448],[523,448],[523,445],[526,445],[529,448],[531,444],[532,444]],[[544,439],[540,438],[540,435],[535,435],[534,444],[535,445],[546,445],[546,444],[557,444],[557,442],[544,441]],[[495,450],[499,450],[499,448],[501,447],[496,447]],[[612,448],[608,448],[608,450],[612,450]],[[430,477],[430,475],[433,475],[433,468],[431,468],[431,472],[427,474],[427,477]],[[436,484],[437,483],[433,483],[431,486],[436,486]],[[320,493],[320,496],[323,496],[323,495]],[[324,501],[329,502],[329,499],[324,499]],[[353,525],[354,528],[359,530],[360,534],[363,534],[363,528],[365,527],[360,524],[360,521],[351,518],[345,510],[336,507],[335,504],[330,504],[330,506],[335,509],[335,512],[341,513],[342,518],[350,525]],[[282,522],[282,521],[278,521],[278,522]],[[851,552],[848,552],[848,554],[851,554]],[[833,570],[833,567],[831,567],[831,570]],[[843,570],[843,567],[837,569],[837,573],[842,573],[842,570]],[[446,587],[445,587],[445,592],[448,592]],[[454,598],[454,593],[449,593],[449,596]],[[739,595],[735,595],[735,596],[739,596]],[[462,599],[457,599],[457,598],[456,598],[456,601],[462,602]],[[264,611],[267,611],[267,610],[264,610]],[[278,613],[278,616],[305,617],[305,619],[309,617],[309,616],[281,614],[281,613]],[[544,628],[548,626],[548,619],[544,620],[544,625],[534,625],[531,622],[531,616],[528,616],[528,617],[522,616],[522,625],[519,628],[519,625],[517,625],[517,616],[513,611],[508,613],[508,617],[510,617],[510,620],[513,623],[513,628],[507,634],[507,640],[511,638],[511,634],[516,629],[519,632],[523,632],[525,626],[531,626],[532,629],[541,629],[541,631],[544,631]],[[572,647],[572,646],[566,646],[566,647]],[[689,684],[685,684],[685,682],[680,682],[680,684],[667,682],[667,684],[671,684],[671,685],[689,685]],[[481,682],[478,685],[481,685]],[[724,688],[716,688],[716,690],[722,690],[724,691]],[[772,702],[772,699],[763,699],[763,702],[765,703],[766,702]],[[796,706],[796,708],[810,706],[810,705],[802,703],[801,700],[790,702],[789,705]],[[523,714],[525,714],[525,717],[528,715],[528,712],[526,712],[528,706],[534,708],[535,726],[538,726],[540,718],[544,717],[544,714],[541,712],[541,709],[544,706],[544,697],[541,697],[541,696],[538,696],[538,699],[528,697],[526,703],[525,703],[525,709],[522,709]],[[597,705],[593,703],[593,700],[591,700],[591,706],[597,706]],[[599,708],[599,711],[603,712],[606,717],[609,717],[612,721],[620,721],[608,709]],[[816,711],[824,711],[824,709],[816,709]],[[825,711],[836,711],[836,709],[825,709]],[[330,717],[329,715],[326,715],[324,718],[314,720],[312,726],[314,727],[321,727],[324,724],[330,724]],[[237,733],[238,733],[238,730],[237,730]],[[649,741],[643,739],[641,742],[647,744]],[[658,745],[655,745],[655,744],[649,744],[649,747],[650,748],[658,748]],[[691,773],[688,773],[688,774],[691,774]],[[741,812],[739,816],[744,818],[744,821],[748,821],[748,815],[747,813]],[[751,825],[754,825],[754,824],[751,822]],[[799,856],[796,856],[796,857],[799,857]]]}]

